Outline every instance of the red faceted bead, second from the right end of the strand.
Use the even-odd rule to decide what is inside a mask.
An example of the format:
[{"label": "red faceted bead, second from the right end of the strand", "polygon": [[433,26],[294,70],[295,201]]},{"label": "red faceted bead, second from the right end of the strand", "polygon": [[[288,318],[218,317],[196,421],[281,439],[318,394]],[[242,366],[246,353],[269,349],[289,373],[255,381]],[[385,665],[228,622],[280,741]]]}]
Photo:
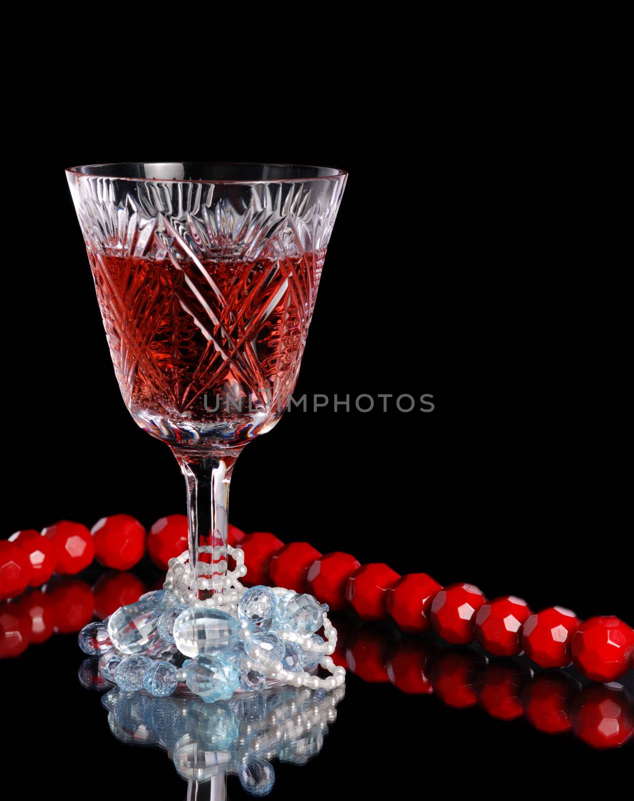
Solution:
[{"label": "red faceted bead, second from the right end of the strand", "polygon": [[541,667],[565,667],[570,664],[570,640],[579,623],[574,612],[551,606],[524,623],[521,646]]}]

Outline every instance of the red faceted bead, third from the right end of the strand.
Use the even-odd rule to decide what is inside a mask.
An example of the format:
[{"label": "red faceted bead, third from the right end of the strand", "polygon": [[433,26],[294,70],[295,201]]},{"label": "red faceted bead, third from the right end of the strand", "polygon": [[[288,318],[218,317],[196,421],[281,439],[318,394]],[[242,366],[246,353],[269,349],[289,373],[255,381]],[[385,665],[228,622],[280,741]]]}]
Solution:
[{"label": "red faceted bead, third from the right end of the strand", "polygon": [[515,595],[505,595],[480,606],[475,615],[475,638],[495,656],[520,654],[524,622],[532,615],[528,603]]}]

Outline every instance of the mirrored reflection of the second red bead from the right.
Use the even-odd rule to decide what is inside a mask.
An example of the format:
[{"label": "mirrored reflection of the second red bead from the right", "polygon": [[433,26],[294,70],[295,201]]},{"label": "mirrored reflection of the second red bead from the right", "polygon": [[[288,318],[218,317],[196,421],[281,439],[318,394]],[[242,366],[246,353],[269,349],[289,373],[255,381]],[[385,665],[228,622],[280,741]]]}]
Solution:
[{"label": "mirrored reflection of the second red bead from the right", "polygon": [[522,690],[524,715],[538,731],[558,735],[570,728],[570,704],[580,686],[563,673],[542,674]]}]

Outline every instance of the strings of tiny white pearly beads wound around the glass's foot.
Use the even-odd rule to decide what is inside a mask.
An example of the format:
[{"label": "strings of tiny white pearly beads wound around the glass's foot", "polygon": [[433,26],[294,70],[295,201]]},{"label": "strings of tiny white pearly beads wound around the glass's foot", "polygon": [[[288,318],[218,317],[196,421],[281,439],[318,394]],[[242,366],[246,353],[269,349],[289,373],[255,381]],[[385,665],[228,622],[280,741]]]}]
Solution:
[{"label": "strings of tiny white pearly beads wound around the glass's foot", "polygon": [[[247,566],[244,564],[244,551],[242,548],[233,548],[227,545],[227,553],[235,559],[235,570],[227,570],[227,573],[217,578],[197,578],[195,579],[189,566],[189,553],[183,551],[179,557],[170,559],[167,570],[167,577],[163,584],[163,590],[175,594],[179,601],[187,606],[212,606],[215,609],[222,609],[231,614],[233,618],[239,620],[239,638],[244,642],[251,631],[246,621],[239,618],[238,604],[243,593],[247,588],[239,581],[247,574]],[[209,570],[207,563],[200,563],[201,570]],[[196,597],[197,590],[217,590],[217,592],[204,601]],[[284,587],[272,587],[275,595],[287,593]],[[306,670],[294,672],[284,668],[282,662],[267,658],[263,651],[255,646],[247,650],[247,657],[243,658],[240,667],[243,670],[257,670],[272,681],[281,682],[288,686],[305,686],[310,690],[334,690],[335,687],[342,686],[346,680],[346,670],[341,666],[335,665],[331,654],[335,652],[337,646],[337,630],[332,625],[327,614],[323,615],[323,638],[324,646],[318,646],[312,641],[312,634],[292,634],[287,631],[275,632],[283,642],[293,642],[302,650],[323,653],[319,659],[319,665],[327,670],[331,675],[328,678],[319,678],[308,673]],[[184,672],[179,671],[179,681],[184,681]]]}]

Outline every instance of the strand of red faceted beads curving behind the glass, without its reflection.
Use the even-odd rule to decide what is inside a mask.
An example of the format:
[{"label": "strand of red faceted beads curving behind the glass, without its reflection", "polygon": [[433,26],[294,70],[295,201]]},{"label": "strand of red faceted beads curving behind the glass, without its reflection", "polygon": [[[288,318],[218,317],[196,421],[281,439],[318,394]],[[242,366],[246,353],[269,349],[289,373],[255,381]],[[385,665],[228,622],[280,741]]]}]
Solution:
[{"label": "strand of red faceted beads curving behind the glass, without its reflection", "polygon": [[[613,682],[632,668],[634,630],[614,616],[580,622],[570,610],[553,606],[534,614],[521,598],[488,601],[471,584],[443,587],[425,573],[399,576],[380,563],[361,565],[350,553],[322,555],[307,542],[289,545],[270,532],[246,534],[229,526],[230,545],[244,550],[247,586],[267,584],[315,594],[331,610],[351,606],[364,621],[387,616],[406,632],[435,630],[453,644],[480,642],[496,656],[524,651],[541,667],[577,670],[597,682]],[[74,575],[94,557],[114,570],[130,570],[145,550],[161,568],[187,549],[187,517],[161,517],[146,531],[134,517],[102,517],[92,530],[59,521],[42,533],[24,529],[0,541],[0,598],[41,586],[56,572]]]}]

